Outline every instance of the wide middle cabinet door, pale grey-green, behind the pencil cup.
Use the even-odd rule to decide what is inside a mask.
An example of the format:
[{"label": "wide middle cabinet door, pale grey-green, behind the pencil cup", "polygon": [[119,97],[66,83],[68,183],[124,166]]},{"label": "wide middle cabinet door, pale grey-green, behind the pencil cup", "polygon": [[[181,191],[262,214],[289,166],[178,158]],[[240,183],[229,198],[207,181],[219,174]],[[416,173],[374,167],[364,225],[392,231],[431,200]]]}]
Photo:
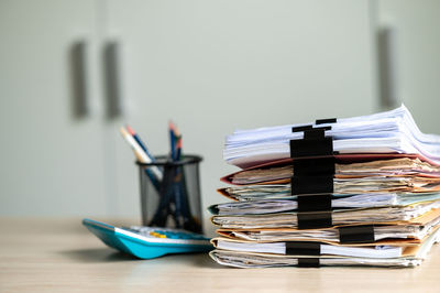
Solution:
[{"label": "wide middle cabinet door, pale grey-green, behind the pencil cup", "polygon": [[[367,1],[113,1],[107,36],[123,48],[125,119],[156,154],[167,121],[205,158],[202,205],[224,200],[224,135],[237,128],[373,111]],[[122,214],[138,211],[138,173],[117,143]],[[123,198],[123,199],[122,199]],[[122,203],[123,202],[123,203]]]}]

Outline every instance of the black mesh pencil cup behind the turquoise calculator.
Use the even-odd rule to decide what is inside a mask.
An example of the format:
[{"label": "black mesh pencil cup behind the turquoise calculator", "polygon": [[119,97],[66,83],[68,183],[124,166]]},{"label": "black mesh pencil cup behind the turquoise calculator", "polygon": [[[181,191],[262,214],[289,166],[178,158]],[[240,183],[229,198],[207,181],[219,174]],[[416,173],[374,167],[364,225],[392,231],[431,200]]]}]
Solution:
[{"label": "black mesh pencil cup behind the turquoise calculator", "polygon": [[136,162],[140,170],[142,224],[202,232],[199,155],[179,161],[157,156]]}]

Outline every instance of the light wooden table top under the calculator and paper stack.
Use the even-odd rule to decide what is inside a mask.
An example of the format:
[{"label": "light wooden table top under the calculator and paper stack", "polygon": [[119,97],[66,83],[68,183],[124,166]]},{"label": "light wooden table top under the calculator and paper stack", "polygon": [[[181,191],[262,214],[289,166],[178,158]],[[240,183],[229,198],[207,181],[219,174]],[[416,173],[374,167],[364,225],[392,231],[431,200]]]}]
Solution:
[{"label": "light wooden table top under the calculator and paper stack", "polygon": [[440,292],[439,246],[429,257],[415,269],[233,269],[205,253],[133,259],[79,218],[0,218],[0,292]]}]

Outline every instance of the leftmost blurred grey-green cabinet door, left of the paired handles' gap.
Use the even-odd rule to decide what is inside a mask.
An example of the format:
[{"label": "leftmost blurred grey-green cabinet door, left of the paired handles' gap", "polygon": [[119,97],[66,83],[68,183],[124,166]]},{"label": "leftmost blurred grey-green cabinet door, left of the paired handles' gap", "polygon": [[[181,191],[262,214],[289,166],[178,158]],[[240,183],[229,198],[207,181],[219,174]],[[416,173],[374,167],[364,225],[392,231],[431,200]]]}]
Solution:
[{"label": "leftmost blurred grey-green cabinet door, left of the paired handles' gap", "polygon": [[1,215],[108,208],[102,121],[75,112],[72,83],[75,44],[95,25],[94,1],[0,1]]}]

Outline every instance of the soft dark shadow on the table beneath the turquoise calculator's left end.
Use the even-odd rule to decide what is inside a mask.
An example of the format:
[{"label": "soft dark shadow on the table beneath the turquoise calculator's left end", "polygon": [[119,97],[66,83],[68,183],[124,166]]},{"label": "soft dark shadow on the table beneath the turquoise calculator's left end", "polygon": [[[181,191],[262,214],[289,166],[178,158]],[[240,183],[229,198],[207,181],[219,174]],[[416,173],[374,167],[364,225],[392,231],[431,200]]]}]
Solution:
[{"label": "soft dark shadow on the table beneath the turquoise calculator's left end", "polygon": [[96,248],[96,249],[74,249],[59,251],[62,256],[77,261],[77,262],[118,262],[118,261],[139,261],[140,259],[110,250],[108,248]]}]

